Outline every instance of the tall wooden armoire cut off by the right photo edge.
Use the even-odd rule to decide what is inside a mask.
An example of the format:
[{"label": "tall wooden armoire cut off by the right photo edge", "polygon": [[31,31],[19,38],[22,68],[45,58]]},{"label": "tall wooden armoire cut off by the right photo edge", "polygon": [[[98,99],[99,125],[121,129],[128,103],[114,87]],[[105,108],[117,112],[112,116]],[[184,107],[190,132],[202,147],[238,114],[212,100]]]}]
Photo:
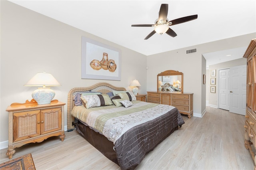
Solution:
[{"label": "tall wooden armoire cut off by the right photo edge", "polygon": [[250,150],[254,164],[256,164],[256,156],[253,152],[256,144],[256,39],[250,42],[243,57],[247,59],[244,146]]}]

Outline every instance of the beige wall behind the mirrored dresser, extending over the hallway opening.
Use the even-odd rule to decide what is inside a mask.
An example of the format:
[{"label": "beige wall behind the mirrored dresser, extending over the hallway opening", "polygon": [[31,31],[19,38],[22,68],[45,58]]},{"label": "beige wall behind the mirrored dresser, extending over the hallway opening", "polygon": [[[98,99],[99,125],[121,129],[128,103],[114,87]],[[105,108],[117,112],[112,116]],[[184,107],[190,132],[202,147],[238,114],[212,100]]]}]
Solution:
[{"label": "beige wall behind the mirrored dresser, extending over the hallway opening", "polygon": [[[147,57],[147,91],[157,90],[157,74],[165,70],[177,70],[184,74],[184,93],[194,93],[194,116],[202,117],[206,103],[206,85],[202,85],[202,75],[206,73],[206,64],[202,53],[247,47],[256,33],[246,34],[215,42],[209,42],[182,49],[158,53]],[[186,54],[187,49],[197,48],[196,53]],[[206,81],[210,81],[206,75]],[[212,96],[209,96],[211,98]],[[209,102],[210,103],[210,102]]]}]

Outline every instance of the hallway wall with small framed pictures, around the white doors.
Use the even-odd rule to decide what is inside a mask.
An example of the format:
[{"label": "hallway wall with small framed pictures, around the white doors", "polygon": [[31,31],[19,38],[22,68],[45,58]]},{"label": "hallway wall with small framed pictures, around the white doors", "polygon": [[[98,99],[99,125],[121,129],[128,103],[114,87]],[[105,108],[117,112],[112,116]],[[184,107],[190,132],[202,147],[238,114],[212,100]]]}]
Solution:
[{"label": "hallway wall with small framed pictures, around the white doors", "polygon": [[[249,42],[250,43],[250,42]],[[249,44],[248,44],[249,45]],[[234,59],[232,61],[227,61],[219,64],[209,65],[209,85],[210,85],[210,72],[211,70],[216,70],[216,93],[210,93],[210,88],[208,90],[209,93],[209,106],[216,107],[218,106],[218,93],[219,93],[219,70],[220,69],[228,69],[230,67],[238,66],[238,65],[246,65],[247,60],[246,58]],[[210,85],[211,86],[211,85]]]}]

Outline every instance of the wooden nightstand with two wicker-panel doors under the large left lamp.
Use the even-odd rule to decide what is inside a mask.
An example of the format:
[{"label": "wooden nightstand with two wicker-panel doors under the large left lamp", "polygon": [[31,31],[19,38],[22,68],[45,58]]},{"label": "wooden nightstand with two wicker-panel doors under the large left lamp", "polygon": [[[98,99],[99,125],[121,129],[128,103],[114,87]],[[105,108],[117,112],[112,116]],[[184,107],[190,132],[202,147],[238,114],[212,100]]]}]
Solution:
[{"label": "wooden nightstand with two wicker-panel doors under the large left lamp", "polygon": [[12,103],[9,112],[9,144],[6,155],[9,159],[14,148],[28,143],[42,142],[51,136],[59,136],[63,141],[64,105],[58,100],[50,104],[38,105],[34,99],[26,103]]}]

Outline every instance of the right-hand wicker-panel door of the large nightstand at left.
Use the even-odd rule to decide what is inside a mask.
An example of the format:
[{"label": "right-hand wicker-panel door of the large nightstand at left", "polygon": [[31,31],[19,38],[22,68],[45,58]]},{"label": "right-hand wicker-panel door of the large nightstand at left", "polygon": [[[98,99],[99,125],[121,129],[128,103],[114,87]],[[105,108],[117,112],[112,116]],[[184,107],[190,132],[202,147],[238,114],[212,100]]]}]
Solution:
[{"label": "right-hand wicker-panel door of the large nightstand at left", "polygon": [[61,130],[61,107],[41,110],[41,134]]}]

